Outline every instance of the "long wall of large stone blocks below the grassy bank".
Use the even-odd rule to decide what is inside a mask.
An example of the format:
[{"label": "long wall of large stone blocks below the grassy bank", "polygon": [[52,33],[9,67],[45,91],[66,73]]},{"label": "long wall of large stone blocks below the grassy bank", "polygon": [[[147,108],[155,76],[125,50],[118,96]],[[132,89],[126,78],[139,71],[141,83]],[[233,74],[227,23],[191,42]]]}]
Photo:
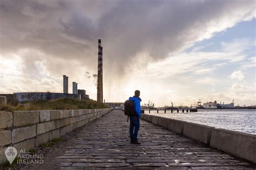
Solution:
[{"label": "long wall of large stone blocks below the grassy bank", "polygon": [[112,109],[0,111],[0,164],[8,146],[35,148],[103,116]]}]

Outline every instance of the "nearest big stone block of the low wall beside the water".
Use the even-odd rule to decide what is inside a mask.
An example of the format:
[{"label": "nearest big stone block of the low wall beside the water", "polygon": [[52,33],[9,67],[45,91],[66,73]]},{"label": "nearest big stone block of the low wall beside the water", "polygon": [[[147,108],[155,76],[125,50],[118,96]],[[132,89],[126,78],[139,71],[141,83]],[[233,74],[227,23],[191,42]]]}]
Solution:
[{"label": "nearest big stone block of the low wall beside the water", "polygon": [[210,146],[256,164],[256,135],[254,134],[214,129]]}]

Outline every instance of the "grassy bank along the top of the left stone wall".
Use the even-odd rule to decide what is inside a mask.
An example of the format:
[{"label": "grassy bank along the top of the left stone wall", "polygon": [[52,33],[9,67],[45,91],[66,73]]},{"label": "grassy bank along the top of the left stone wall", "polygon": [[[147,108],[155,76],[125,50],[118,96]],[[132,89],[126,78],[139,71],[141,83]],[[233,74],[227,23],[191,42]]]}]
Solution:
[{"label": "grassy bank along the top of the left stone wall", "polygon": [[75,98],[58,98],[51,101],[37,100],[20,103],[18,105],[0,104],[0,111],[26,111],[26,110],[71,110],[71,109],[104,109],[105,104],[92,100],[78,100]]}]

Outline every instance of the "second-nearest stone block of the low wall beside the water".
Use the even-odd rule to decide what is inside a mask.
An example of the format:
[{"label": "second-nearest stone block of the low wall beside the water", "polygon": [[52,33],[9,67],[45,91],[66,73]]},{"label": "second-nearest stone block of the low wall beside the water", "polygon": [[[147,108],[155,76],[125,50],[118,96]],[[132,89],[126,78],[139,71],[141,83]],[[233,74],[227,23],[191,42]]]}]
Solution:
[{"label": "second-nearest stone block of the low wall beside the water", "polygon": [[186,122],[184,124],[183,135],[209,145],[213,129],[211,126]]}]

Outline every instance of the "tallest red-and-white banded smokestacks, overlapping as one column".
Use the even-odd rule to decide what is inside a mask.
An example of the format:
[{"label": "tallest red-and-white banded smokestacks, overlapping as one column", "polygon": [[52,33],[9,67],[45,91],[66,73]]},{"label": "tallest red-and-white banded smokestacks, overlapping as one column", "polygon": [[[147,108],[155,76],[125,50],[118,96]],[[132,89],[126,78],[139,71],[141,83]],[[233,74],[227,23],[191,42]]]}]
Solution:
[{"label": "tallest red-and-white banded smokestacks, overlapping as one column", "polygon": [[97,80],[97,101],[103,103],[103,71],[102,71],[102,46],[98,40],[98,80]]}]

